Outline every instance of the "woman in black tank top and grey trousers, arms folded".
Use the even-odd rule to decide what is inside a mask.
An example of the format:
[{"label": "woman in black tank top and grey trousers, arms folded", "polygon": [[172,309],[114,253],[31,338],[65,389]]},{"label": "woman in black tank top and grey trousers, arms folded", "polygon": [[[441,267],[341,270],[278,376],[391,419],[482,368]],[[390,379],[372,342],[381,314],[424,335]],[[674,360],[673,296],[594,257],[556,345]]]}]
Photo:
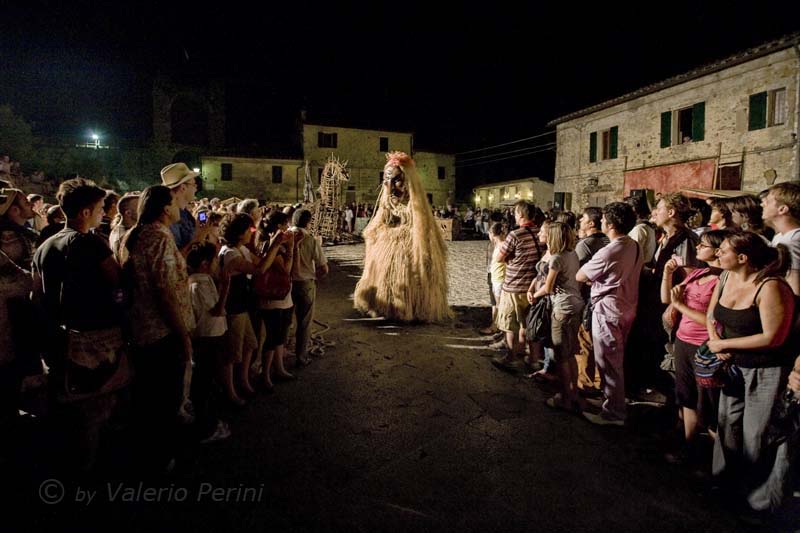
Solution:
[{"label": "woman in black tank top and grey trousers, arms folded", "polygon": [[725,239],[716,255],[725,273],[708,308],[708,348],[736,365],[742,382],[720,397],[713,473],[730,489],[743,483],[753,510],[774,510],[787,485],[789,445],[767,447],[764,433],[794,355],[784,346],[794,311],[784,280],[789,256],[750,231]]}]

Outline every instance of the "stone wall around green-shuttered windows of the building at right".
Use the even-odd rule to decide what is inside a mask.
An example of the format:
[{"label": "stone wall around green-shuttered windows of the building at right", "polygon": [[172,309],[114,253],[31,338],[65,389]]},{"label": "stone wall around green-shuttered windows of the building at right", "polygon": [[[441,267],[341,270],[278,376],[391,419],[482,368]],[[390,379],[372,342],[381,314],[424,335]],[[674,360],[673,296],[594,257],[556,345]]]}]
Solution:
[{"label": "stone wall around green-shuttered windows of the building at right", "polygon": [[[708,159],[717,167],[740,164],[743,190],[767,187],[771,169],[777,181],[800,179],[798,83],[800,59],[787,49],[558,124],[555,190],[573,193],[573,209],[580,209],[621,199],[626,171]],[[786,90],[785,123],[748,131],[750,95],[779,88]],[[662,148],[661,114],[698,102],[705,102],[704,139]],[[601,132],[615,126],[617,157],[603,160]],[[596,162],[590,162],[592,132],[598,132]],[[667,192],[674,184],[665,177],[655,188]]]}]

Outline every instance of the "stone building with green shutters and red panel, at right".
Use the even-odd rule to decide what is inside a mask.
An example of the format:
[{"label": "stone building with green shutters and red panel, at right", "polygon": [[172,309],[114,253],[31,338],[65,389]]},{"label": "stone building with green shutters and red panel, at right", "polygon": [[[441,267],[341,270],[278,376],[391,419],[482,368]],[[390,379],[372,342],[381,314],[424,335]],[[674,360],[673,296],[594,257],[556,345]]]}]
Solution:
[{"label": "stone building with green shutters and red panel, at right", "polygon": [[800,179],[800,33],[557,118],[555,201]]}]

